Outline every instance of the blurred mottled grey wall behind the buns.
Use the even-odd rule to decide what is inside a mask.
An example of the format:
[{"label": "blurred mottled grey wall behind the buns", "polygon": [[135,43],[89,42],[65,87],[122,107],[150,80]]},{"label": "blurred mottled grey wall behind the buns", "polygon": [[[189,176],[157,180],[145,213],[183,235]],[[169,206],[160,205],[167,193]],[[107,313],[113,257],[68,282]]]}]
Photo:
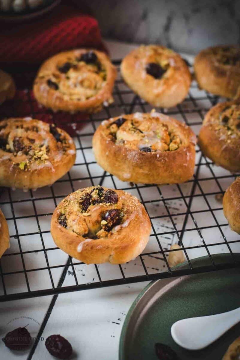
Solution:
[{"label": "blurred mottled grey wall behind the buns", "polygon": [[240,43],[240,0],[91,0],[86,2],[108,39],[156,43],[197,53]]}]

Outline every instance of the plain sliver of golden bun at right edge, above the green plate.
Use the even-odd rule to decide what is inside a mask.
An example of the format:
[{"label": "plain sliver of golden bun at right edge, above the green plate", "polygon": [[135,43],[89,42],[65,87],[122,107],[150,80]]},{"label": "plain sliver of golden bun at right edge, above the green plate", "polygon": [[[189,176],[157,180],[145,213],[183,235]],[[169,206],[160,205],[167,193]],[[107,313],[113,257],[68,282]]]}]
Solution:
[{"label": "plain sliver of golden bun at right edge, above the green plate", "polygon": [[240,178],[227,188],[223,196],[223,213],[233,231],[240,234]]}]

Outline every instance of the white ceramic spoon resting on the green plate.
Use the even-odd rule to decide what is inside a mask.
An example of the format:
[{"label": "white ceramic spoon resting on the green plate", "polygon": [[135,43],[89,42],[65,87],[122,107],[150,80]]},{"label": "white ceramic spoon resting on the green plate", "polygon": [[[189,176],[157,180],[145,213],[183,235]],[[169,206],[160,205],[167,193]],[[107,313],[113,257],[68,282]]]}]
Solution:
[{"label": "white ceramic spoon resting on the green plate", "polygon": [[240,307],[222,314],[199,316],[176,321],[171,327],[174,341],[188,350],[199,350],[240,321]]}]

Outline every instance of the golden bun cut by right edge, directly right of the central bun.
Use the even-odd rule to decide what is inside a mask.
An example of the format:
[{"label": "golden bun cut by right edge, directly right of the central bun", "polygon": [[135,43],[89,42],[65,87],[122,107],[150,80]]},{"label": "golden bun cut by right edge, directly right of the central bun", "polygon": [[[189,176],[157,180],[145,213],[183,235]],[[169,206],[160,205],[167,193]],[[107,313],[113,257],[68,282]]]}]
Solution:
[{"label": "golden bun cut by right edge, directly right of the central bun", "polygon": [[240,104],[219,103],[206,114],[199,132],[202,152],[217,165],[232,172],[240,170]]}]

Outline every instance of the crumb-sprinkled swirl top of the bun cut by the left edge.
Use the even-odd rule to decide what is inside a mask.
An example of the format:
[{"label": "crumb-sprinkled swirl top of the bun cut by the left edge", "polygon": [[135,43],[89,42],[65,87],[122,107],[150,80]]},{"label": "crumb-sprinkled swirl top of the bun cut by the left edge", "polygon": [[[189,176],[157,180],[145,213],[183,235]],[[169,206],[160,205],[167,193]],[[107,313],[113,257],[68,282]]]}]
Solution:
[{"label": "crumb-sprinkled swirl top of the bun cut by the left edge", "polygon": [[5,153],[1,159],[8,159],[20,170],[51,166],[52,154],[61,156],[71,151],[69,148],[69,140],[53,124],[19,120],[0,122],[0,150]]}]

